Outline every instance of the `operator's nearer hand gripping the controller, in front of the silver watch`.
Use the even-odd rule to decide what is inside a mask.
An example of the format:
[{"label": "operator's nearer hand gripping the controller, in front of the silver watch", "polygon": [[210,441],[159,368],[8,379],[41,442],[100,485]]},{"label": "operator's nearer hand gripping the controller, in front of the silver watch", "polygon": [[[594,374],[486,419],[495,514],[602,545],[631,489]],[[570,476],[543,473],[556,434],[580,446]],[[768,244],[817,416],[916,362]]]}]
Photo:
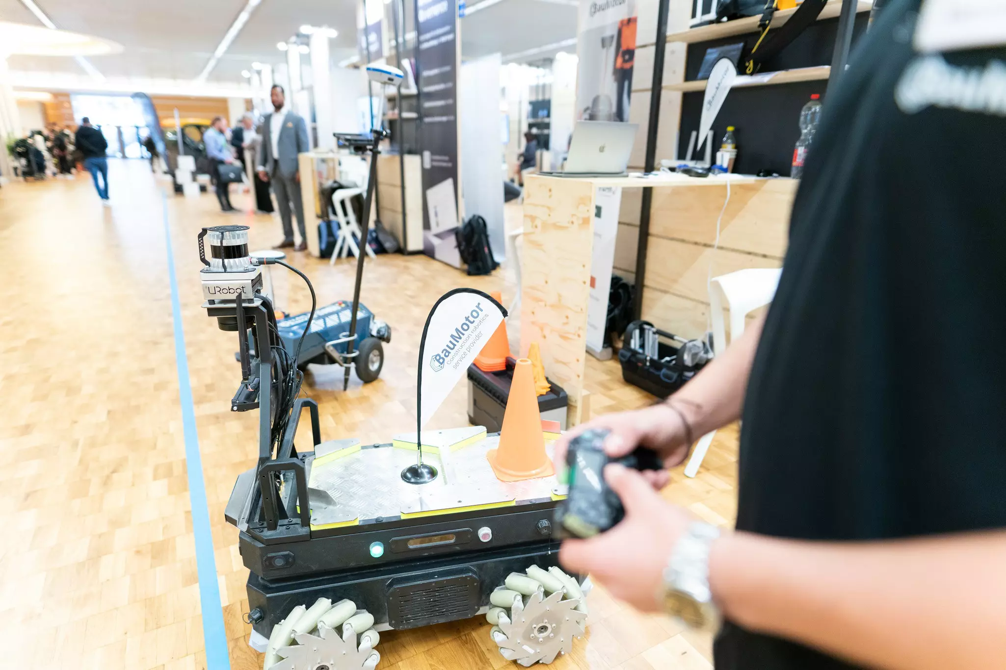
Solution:
[{"label": "operator's nearer hand gripping the controller, in front of the silver watch", "polygon": [[566,539],[559,564],[567,573],[590,574],[619,600],[643,612],[659,612],[664,569],[691,516],[660,497],[636,470],[617,463],[605,479],[622,498],[626,516],[590,539]]}]

